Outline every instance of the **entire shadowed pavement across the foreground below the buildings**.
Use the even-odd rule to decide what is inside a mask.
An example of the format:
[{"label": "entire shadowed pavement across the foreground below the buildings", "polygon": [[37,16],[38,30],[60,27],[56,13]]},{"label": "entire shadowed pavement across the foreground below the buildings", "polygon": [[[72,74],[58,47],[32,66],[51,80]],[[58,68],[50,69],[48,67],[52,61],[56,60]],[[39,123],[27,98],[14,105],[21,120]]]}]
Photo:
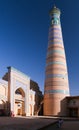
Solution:
[{"label": "entire shadowed pavement across the foreground below the buildings", "polygon": [[53,117],[0,117],[0,130],[79,130],[78,119],[66,119],[61,128]]}]

